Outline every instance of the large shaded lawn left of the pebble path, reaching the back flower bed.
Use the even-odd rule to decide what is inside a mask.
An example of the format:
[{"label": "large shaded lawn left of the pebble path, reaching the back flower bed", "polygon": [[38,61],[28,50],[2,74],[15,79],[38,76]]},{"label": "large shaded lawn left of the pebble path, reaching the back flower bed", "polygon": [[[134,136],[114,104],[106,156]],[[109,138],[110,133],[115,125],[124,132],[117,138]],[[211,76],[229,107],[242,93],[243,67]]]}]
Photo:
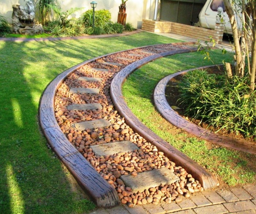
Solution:
[{"label": "large shaded lawn left of the pebble path, reaching the back flower bed", "polygon": [[38,123],[45,87],[87,59],[176,42],[142,32],[102,39],[0,42],[0,213],[85,213],[95,205],[48,148]]}]

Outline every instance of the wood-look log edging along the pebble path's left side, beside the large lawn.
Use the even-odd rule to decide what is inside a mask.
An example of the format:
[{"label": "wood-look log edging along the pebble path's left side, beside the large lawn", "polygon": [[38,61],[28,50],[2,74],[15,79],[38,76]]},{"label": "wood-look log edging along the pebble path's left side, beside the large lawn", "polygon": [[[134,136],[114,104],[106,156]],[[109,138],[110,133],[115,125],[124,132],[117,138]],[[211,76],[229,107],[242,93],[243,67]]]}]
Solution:
[{"label": "wood-look log edging along the pebble path's left side, beside the large lawn", "polygon": [[[193,43],[188,42],[176,44]],[[159,44],[136,47],[129,50],[154,46],[159,46]],[[106,54],[101,57],[84,61],[59,74],[46,87],[44,93],[42,94],[39,105],[39,122],[50,147],[57,154],[57,156],[59,156],[60,160],[67,167],[69,172],[71,172],[78,184],[91,197],[98,207],[112,207],[119,204],[120,199],[117,191],[110,186],[105,179],[102,178],[102,176],[91,166],[91,164],[80,154],[80,152],[78,152],[78,150],[68,141],[67,137],[61,131],[55,118],[54,100],[57,89],[71,73],[88,63],[96,61],[97,59],[129,50]]]}]

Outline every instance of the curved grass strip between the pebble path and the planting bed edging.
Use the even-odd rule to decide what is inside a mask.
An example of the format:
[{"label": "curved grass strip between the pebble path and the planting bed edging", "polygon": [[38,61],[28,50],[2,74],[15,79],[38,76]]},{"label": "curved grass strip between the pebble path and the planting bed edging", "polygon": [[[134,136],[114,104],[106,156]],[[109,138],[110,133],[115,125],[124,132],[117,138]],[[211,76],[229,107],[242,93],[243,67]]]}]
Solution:
[{"label": "curved grass strip between the pebble path and the planting bed edging", "polygon": [[[177,54],[158,59],[144,65],[132,73],[123,85],[125,100],[132,112],[153,132],[185,153],[207,170],[218,176],[221,184],[235,186],[256,181],[256,157],[238,152],[216,144],[207,143],[182,132],[165,121],[154,107],[152,98],[157,83],[169,74],[205,65],[210,61],[203,60],[199,52]],[[212,52],[216,64],[228,55],[220,50]]]}]

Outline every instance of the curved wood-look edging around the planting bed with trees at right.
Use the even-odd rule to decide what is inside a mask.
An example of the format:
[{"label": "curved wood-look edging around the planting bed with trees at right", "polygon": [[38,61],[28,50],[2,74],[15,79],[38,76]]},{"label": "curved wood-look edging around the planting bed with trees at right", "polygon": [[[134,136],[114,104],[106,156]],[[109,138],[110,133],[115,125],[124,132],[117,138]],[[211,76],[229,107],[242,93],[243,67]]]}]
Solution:
[{"label": "curved wood-look edging around the planting bed with trees at right", "polygon": [[213,133],[207,129],[199,127],[192,122],[189,122],[182,118],[175,110],[173,110],[168,104],[165,96],[165,89],[169,81],[179,75],[185,74],[188,71],[198,70],[198,69],[207,69],[213,66],[204,66],[198,67],[195,69],[189,69],[180,71],[174,74],[171,74],[165,78],[163,78],[155,87],[154,91],[154,102],[159,113],[164,117],[167,121],[169,121],[174,126],[183,129],[184,131],[199,137],[200,139],[207,140],[211,143],[221,145],[223,147],[236,149],[243,152],[248,152],[253,155],[256,155],[256,144],[250,143],[248,141],[237,140],[231,137],[226,137],[217,133]]}]

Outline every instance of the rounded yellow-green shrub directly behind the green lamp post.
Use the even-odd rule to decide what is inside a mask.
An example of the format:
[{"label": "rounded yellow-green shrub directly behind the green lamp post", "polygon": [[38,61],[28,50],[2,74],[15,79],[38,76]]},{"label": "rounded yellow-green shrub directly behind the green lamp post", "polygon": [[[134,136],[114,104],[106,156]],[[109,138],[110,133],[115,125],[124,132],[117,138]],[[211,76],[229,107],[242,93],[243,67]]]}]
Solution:
[{"label": "rounded yellow-green shrub directly behind the green lamp post", "polygon": [[[86,12],[84,12],[81,16],[81,19],[83,20],[83,23],[86,27],[92,27],[93,26],[93,10],[90,9]],[[102,9],[95,11],[95,20],[94,24],[95,26],[103,27],[106,23],[110,22],[111,19],[111,13],[108,10]]]}]

